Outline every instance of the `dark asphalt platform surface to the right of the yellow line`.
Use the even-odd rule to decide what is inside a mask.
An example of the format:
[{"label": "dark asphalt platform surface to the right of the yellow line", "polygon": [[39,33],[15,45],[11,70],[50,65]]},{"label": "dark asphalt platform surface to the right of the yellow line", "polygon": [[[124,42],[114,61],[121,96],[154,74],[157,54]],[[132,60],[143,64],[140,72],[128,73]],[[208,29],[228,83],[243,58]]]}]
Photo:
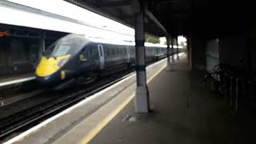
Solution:
[{"label": "dark asphalt platform surface to the right of the yellow line", "polygon": [[109,122],[90,144],[256,143],[255,115],[230,113],[226,98],[210,93],[182,59],[149,83],[153,114],[134,114],[134,102]]}]

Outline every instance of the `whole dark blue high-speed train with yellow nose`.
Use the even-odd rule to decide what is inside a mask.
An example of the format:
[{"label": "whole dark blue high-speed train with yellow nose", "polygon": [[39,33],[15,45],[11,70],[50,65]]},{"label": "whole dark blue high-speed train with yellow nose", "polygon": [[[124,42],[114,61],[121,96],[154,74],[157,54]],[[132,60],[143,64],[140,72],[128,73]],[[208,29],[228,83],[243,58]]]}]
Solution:
[{"label": "whole dark blue high-speed train with yellow nose", "polygon": [[[166,57],[166,46],[146,43],[146,62]],[[49,46],[36,68],[36,79],[46,86],[110,74],[135,65],[134,42],[116,42],[67,34]]]}]

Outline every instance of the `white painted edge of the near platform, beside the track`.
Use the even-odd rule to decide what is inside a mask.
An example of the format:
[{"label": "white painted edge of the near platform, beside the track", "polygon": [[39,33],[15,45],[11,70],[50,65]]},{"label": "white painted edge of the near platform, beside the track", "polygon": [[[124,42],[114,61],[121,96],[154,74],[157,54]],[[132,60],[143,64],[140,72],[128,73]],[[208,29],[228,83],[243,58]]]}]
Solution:
[{"label": "white painted edge of the near platform, beside the track", "polygon": [[[151,64],[150,66],[147,66],[146,69],[148,70],[148,69],[150,69],[151,67],[153,67],[153,66],[155,66],[155,65],[157,65],[157,64],[159,64],[160,62],[163,62],[163,61],[165,61],[165,60],[166,60],[166,58],[163,58],[161,61],[155,62],[155,63]],[[104,92],[106,92],[107,90],[110,90],[110,89],[114,88],[115,86],[118,86],[118,85],[121,84],[122,82],[125,82],[126,80],[128,80],[128,79],[134,77],[134,76],[136,75],[136,73],[133,72],[133,73],[131,73],[131,74],[129,74],[129,75],[130,75],[129,77],[124,78],[124,79],[122,79],[121,81],[116,82],[116,83],[114,83],[113,85],[107,87],[106,89],[104,89],[104,90],[102,90],[102,91],[99,91],[99,92],[96,93],[96,94],[91,95],[89,98],[86,98],[85,100],[83,100],[83,101],[81,101],[81,102],[78,102],[78,103],[75,104],[74,106],[71,106],[70,108],[67,108],[66,110],[63,110],[61,113],[56,114],[56,115],[54,115],[53,117],[46,119],[44,122],[41,122],[41,123],[39,123],[37,126],[32,127],[30,130],[26,130],[26,131],[23,132],[22,134],[19,134],[18,136],[14,137],[14,138],[11,138],[10,140],[8,140],[7,142],[4,142],[3,144],[11,144],[11,143],[14,143],[14,142],[21,141],[22,139],[26,138],[26,136],[28,136],[29,134],[32,134],[32,133],[36,132],[36,131],[39,130],[41,127],[46,126],[48,123],[54,121],[54,119],[57,119],[57,118],[61,117],[61,116],[64,115],[64,114],[69,114],[72,110],[74,110],[74,109],[78,108],[79,106],[82,106],[82,105],[84,105],[84,104],[86,104],[86,103],[88,103],[88,102],[94,100],[94,99],[97,98],[99,95],[101,95],[101,94],[103,94]]]}]

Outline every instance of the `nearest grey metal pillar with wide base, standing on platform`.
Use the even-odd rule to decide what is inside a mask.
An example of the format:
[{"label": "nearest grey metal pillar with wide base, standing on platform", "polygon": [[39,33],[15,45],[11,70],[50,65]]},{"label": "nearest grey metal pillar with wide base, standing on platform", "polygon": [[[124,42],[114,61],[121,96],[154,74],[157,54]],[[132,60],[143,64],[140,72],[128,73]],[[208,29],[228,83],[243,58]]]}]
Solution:
[{"label": "nearest grey metal pillar with wide base, standing on platform", "polygon": [[150,111],[149,92],[146,86],[146,60],[144,47],[144,10],[136,12],[135,20],[135,49],[136,49],[136,72],[137,90],[135,96],[135,112],[148,113]]}]

